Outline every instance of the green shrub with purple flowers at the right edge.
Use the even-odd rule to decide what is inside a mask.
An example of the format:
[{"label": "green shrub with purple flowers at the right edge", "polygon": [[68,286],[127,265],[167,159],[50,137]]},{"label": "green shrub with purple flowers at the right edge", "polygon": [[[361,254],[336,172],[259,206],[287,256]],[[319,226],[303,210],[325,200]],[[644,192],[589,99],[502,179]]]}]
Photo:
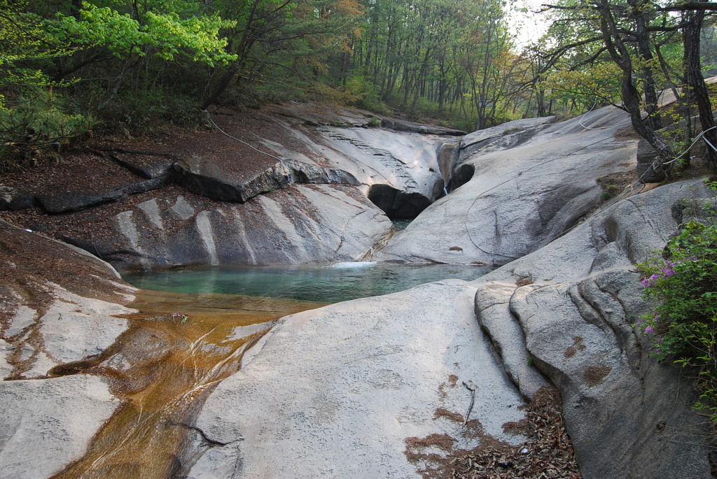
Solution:
[{"label": "green shrub with purple flowers at the right edge", "polygon": [[717,422],[717,225],[690,220],[663,255],[642,263],[644,297],[655,304],[635,326],[657,359],[698,368],[695,407]]}]

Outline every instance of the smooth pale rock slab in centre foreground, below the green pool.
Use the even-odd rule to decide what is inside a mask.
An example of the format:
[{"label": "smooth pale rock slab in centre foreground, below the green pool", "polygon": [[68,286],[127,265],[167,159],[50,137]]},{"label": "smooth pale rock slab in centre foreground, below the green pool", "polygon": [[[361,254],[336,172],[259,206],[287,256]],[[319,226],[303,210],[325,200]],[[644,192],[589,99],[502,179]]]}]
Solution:
[{"label": "smooth pale rock slab in centre foreground, below the green pool", "polygon": [[504,425],[524,402],[474,294],[447,280],[281,319],[206,400],[187,477],[420,478],[416,448],[521,442]]}]

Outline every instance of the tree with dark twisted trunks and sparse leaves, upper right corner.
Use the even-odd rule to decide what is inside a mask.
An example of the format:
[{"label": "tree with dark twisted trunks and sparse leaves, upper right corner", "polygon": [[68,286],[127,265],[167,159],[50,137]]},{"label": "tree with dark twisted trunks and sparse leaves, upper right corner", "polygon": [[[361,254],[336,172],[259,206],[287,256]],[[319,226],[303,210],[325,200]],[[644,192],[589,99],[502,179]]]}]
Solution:
[{"label": "tree with dark twisted trunks and sparse leaves, upper right corner", "polygon": [[[644,0],[576,0],[547,6],[558,17],[555,30],[566,32],[554,37],[556,45],[547,55],[546,69],[559,62],[572,63],[571,71],[610,62],[619,69],[619,107],[630,113],[632,127],[657,150],[658,167],[672,168],[679,145],[660,134],[665,119],[660,112],[657,92],[673,88],[685,120],[692,115],[690,105],[700,114],[705,137],[716,143],[716,130],[706,85],[701,74],[700,32],[706,2],[650,3]],[[665,50],[682,43],[675,68]],[[592,54],[584,52],[592,51]],[[678,55],[679,56],[679,55]],[[647,112],[647,116],[643,115]],[[685,141],[693,136],[685,121]],[[717,155],[708,151],[717,165]]]}]

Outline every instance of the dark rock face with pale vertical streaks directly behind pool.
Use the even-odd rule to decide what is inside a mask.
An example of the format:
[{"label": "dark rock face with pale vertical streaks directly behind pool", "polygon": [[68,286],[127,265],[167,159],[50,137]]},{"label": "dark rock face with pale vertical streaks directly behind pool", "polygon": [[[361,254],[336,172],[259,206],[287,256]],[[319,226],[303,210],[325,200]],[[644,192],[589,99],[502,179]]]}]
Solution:
[{"label": "dark rock face with pale vertical streaks directly behind pool", "polygon": [[242,204],[168,188],[40,226],[120,270],[355,261],[391,231],[384,213],[343,185],[292,185]]}]

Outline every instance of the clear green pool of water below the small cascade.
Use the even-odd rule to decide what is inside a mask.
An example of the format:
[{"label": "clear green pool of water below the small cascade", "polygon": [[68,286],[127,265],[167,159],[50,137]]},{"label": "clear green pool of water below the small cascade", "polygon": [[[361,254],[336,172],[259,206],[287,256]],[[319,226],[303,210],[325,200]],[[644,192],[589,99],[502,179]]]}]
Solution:
[{"label": "clear green pool of water below the small cascade", "polygon": [[142,289],[223,293],[334,303],[395,293],[441,279],[471,281],[490,268],[447,264],[336,263],[144,271],[125,281]]}]

